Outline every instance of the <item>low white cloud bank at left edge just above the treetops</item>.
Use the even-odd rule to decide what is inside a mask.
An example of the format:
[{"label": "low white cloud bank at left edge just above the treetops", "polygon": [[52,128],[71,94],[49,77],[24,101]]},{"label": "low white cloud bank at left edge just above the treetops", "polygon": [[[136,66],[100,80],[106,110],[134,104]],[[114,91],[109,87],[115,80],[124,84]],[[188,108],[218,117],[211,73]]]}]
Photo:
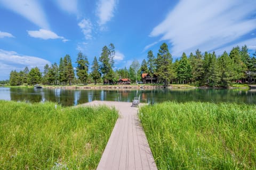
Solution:
[{"label": "low white cloud bank at left edge just above the treetops", "polygon": [[38,67],[43,71],[45,64],[50,65],[51,62],[36,56],[20,55],[14,51],[0,49],[0,79],[9,79],[11,70],[20,71],[26,66],[29,69]]}]

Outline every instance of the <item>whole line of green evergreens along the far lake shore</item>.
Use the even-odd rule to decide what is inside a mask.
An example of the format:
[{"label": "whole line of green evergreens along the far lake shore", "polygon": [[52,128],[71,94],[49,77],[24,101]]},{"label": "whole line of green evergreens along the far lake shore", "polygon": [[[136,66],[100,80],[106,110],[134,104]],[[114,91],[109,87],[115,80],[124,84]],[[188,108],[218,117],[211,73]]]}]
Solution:
[{"label": "whole line of green evergreens along the far lake shore", "polygon": [[225,51],[218,57],[215,52],[202,53],[197,49],[195,54],[187,56],[183,53],[173,62],[167,44],[163,43],[156,55],[150,50],[141,64],[134,60],[128,69],[114,70],[114,56],[114,44],[104,46],[99,58],[94,56],[90,67],[87,56],[79,52],[77,66],[73,68],[67,54],[60,58],[59,64],[46,64],[43,72],[37,67],[31,70],[26,67],[19,72],[12,70],[10,85],[115,84],[120,78],[129,78],[135,83],[141,81],[142,73],[156,76],[157,83],[164,85],[198,83],[201,86],[227,87],[241,81],[255,83],[256,79],[256,51],[250,56],[246,45],[233,47],[229,54]]}]

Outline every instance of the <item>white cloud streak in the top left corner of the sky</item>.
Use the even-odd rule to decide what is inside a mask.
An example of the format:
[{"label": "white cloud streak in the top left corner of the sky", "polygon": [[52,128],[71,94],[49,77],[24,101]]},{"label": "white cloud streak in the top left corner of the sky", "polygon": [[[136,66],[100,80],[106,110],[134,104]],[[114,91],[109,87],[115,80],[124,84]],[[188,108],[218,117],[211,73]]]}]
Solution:
[{"label": "white cloud streak in the top left corner of the sky", "polygon": [[0,0],[0,3],[7,9],[22,15],[35,25],[49,29],[44,11],[38,1],[35,0]]}]

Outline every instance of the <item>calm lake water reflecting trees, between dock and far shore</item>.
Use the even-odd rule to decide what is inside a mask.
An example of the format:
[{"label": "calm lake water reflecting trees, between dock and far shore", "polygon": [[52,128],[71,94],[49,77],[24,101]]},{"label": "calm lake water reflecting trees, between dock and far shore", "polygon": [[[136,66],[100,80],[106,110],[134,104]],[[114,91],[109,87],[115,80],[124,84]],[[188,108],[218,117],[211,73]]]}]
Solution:
[{"label": "calm lake water reflecting trees, between dock and far shore", "polygon": [[235,102],[256,104],[256,90],[64,90],[0,87],[0,100],[45,102],[51,101],[62,106],[75,106],[93,100],[132,102],[136,96],[141,102],[201,101]]}]

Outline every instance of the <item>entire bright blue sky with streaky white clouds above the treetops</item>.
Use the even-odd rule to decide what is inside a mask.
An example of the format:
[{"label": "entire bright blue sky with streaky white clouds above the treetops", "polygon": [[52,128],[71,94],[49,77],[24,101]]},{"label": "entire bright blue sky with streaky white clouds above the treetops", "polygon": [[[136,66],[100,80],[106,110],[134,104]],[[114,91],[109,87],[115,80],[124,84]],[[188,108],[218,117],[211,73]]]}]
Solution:
[{"label": "entire bright blue sky with streaky white clouds above the treetops", "polygon": [[115,45],[115,68],[140,62],[166,42],[182,52],[217,54],[244,44],[256,49],[255,0],[0,0],[0,80],[79,51],[89,62]]}]

